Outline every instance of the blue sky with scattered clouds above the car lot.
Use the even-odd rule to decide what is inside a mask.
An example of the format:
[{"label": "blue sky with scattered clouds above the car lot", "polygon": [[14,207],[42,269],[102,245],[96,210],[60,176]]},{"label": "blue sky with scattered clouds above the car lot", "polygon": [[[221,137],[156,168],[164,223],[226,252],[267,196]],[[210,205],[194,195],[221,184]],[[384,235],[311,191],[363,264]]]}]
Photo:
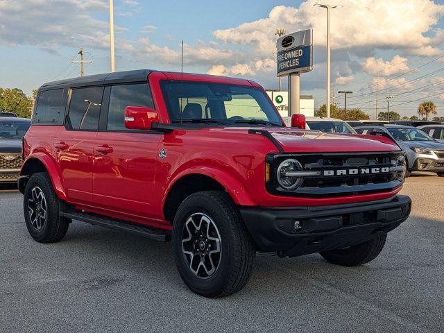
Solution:
[{"label": "blue sky with scattered clouds above the car lot", "polygon": [[[321,105],[325,10],[314,2],[114,0],[117,70],[178,71],[184,40],[185,71],[252,78],[275,89],[274,28],[313,28],[314,71],[302,74],[301,88]],[[379,108],[394,95],[393,110],[411,115],[432,99],[444,116],[443,1],[335,3],[343,8],[332,11],[332,88],[355,92],[348,107],[373,116],[377,81]],[[109,71],[108,0],[3,0],[0,22],[1,87],[31,94],[46,81],[78,76],[70,60],[80,46],[93,60],[86,74]],[[337,94],[336,101],[342,106]]]}]

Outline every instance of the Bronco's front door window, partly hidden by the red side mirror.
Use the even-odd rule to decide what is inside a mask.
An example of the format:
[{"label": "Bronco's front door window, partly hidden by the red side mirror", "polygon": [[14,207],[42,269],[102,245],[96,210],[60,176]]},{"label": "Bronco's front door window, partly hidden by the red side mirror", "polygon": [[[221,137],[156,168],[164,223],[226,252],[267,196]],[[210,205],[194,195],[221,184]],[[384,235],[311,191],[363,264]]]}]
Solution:
[{"label": "Bronco's front door window, partly hidden by the red side mirror", "polygon": [[127,130],[125,128],[125,108],[142,106],[154,108],[148,83],[139,85],[114,85],[111,87],[110,107],[108,110],[108,130]]}]

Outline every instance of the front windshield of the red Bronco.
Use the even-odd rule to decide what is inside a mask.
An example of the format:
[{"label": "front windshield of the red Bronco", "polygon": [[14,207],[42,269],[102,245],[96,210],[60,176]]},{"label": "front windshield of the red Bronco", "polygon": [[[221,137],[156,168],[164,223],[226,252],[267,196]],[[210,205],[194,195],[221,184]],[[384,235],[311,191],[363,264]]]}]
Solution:
[{"label": "front windshield of the red Bronco", "polygon": [[[167,81],[162,93],[172,122],[182,120],[223,125],[281,126],[282,121],[262,89],[223,83]],[[203,120],[202,120],[203,119]],[[194,120],[194,121],[193,121]]]}]

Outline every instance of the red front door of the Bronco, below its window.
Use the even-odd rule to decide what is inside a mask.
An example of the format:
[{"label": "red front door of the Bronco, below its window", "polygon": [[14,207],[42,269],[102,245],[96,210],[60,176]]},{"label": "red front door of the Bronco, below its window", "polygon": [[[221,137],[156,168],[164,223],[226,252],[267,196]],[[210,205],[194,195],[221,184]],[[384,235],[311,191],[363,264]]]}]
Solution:
[{"label": "red front door of the Bronco, below its window", "polygon": [[94,205],[153,216],[155,162],[161,134],[100,132],[94,146]]}]

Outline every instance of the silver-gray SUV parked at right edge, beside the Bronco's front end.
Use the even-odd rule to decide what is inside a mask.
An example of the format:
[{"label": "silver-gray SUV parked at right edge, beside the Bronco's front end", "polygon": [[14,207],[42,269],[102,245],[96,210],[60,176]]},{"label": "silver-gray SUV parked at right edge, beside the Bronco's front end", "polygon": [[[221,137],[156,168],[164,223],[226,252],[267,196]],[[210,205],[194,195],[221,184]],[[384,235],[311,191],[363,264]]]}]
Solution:
[{"label": "silver-gray SUV parked at right edge, beside the Bronco's front end", "polygon": [[406,153],[409,173],[412,171],[432,171],[444,177],[444,144],[422,130],[402,125],[357,126],[359,134],[385,133],[395,139]]}]

